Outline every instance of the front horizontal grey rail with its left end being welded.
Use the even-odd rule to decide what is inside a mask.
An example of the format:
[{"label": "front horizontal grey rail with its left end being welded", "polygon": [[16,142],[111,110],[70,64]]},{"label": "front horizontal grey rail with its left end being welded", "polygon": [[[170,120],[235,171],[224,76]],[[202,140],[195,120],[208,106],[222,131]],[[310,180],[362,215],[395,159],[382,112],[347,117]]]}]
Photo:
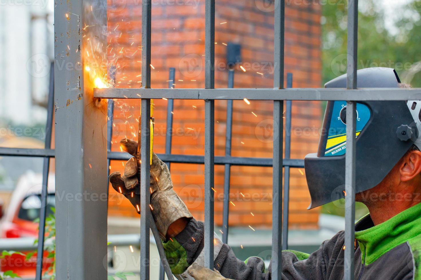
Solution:
[{"label": "front horizontal grey rail with its left end being welded", "polygon": [[167,98],[203,100],[421,100],[421,88],[362,88],[355,90],[325,88],[288,89],[136,89],[96,88],[98,98]]}]

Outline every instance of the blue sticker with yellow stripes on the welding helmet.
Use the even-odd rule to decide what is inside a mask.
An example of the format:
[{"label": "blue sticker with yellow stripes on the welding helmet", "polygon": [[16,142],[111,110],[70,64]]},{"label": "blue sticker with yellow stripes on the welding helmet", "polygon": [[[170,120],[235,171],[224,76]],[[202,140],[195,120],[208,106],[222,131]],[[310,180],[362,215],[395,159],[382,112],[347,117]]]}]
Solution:
[{"label": "blue sticker with yellow stripes on the welding helmet", "polygon": [[[357,103],[356,137],[370,119],[370,109]],[[346,151],[346,101],[333,103],[332,118],[328,130],[325,156],[341,156]]]}]

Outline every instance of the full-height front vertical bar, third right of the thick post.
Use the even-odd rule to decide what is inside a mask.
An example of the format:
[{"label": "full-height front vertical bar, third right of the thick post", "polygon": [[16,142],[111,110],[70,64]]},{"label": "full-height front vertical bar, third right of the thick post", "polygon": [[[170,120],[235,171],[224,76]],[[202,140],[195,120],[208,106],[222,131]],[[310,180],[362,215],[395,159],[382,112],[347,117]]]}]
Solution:
[{"label": "full-height front vertical bar, third right of the thick post", "polygon": [[[275,0],[273,87],[284,87],[285,0]],[[282,142],[283,101],[273,102],[272,279],[282,277]]]}]

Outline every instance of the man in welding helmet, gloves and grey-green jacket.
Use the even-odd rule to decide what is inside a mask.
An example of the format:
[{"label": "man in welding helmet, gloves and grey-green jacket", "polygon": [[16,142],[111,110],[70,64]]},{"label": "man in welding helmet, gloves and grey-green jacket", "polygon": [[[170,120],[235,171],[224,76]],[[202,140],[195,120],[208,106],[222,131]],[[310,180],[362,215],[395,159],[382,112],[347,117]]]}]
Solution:
[{"label": "man in welding helmet, gloves and grey-green jacket", "polygon": [[[341,76],[325,84],[346,87]],[[394,69],[357,71],[357,87],[407,87]],[[379,96],[381,98],[381,96]],[[359,101],[356,106],[356,201],[369,214],[355,224],[355,279],[421,279],[421,100]],[[309,209],[344,198],[346,102],[328,101],[317,153],[304,159],[311,204]],[[136,156],[137,143],[122,147]],[[139,204],[136,160],[123,177],[110,175],[115,190]],[[134,185],[133,185],[134,184]],[[153,154],[152,214],[163,240],[171,271],[178,279],[271,279],[271,264],[250,257],[237,259],[216,236],[214,270],[203,267],[204,224],[192,217],[174,192],[167,166]],[[324,241],[312,254],[282,251],[282,279],[342,279],[344,231]]]}]

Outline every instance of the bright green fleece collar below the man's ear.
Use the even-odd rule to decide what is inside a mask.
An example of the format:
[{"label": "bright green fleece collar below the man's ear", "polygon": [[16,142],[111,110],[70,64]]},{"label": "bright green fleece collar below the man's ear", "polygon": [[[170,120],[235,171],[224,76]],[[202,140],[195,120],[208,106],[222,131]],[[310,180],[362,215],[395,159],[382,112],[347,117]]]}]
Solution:
[{"label": "bright green fleece collar below the man's ear", "polygon": [[361,262],[371,264],[394,247],[421,234],[421,203],[374,226],[370,215],[355,225],[355,239],[361,250]]}]

